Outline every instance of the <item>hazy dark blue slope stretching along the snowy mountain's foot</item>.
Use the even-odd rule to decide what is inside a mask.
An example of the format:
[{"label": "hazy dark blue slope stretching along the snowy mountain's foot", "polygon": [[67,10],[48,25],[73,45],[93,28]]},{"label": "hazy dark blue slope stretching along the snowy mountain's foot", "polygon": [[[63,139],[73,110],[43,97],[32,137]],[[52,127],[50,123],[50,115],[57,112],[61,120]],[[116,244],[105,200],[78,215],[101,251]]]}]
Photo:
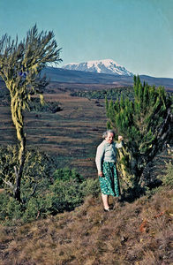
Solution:
[{"label": "hazy dark blue slope stretching along the snowy mountain's foot", "polygon": [[[74,70],[66,70],[62,68],[53,68],[47,67],[43,72],[46,73],[48,78],[52,82],[58,83],[66,83],[67,86],[71,86],[72,84],[82,84],[87,85],[109,85],[114,87],[127,87],[132,86],[133,77],[125,76],[125,75],[113,75],[113,74],[105,74],[98,72],[84,72],[84,71],[74,71]],[[173,79],[168,78],[154,78],[147,75],[140,75],[140,80],[146,81],[148,85],[154,85],[156,87],[163,86],[167,90],[173,90]],[[81,86],[80,86],[81,87]]]}]

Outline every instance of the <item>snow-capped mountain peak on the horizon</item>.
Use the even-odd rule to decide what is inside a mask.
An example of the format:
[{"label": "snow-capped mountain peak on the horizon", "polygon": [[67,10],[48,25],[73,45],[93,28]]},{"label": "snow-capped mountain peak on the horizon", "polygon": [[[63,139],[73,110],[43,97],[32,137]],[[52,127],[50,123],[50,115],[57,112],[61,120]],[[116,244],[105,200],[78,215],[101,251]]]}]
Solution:
[{"label": "snow-capped mountain peak on the horizon", "polygon": [[65,64],[62,68],[67,70],[76,70],[84,72],[99,72],[107,73],[113,75],[125,75],[133,76],[132,72],[129,72],[124,68],[124,66],[117,64],[111,59],[97,60],[97,61],[87,61],[85,63],[71,63]]}]

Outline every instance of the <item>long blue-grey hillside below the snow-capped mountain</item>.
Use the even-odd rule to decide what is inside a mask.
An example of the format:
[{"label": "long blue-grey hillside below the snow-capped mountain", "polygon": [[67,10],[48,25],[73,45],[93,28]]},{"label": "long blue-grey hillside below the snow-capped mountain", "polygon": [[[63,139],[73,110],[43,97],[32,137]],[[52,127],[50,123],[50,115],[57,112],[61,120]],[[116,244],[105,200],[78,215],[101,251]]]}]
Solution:
[{"label": "long blue-grey hillside below the snow-capped mountain", "polygon": [[[132,87],[133,77],[127,75],[113,75],[98,72],[84,72],[66,70],[63,68],[47,67],[42,70],[42,75],[47,76],[54,87],[79,89],[79,90],[102,90],[114,87]],[[165,87],[169,92],[173,91],[173,79],[154,78],[147,75],[139,75],[141,82],[155,87]],[[0,77],[0,87],[4,82]]]}]

